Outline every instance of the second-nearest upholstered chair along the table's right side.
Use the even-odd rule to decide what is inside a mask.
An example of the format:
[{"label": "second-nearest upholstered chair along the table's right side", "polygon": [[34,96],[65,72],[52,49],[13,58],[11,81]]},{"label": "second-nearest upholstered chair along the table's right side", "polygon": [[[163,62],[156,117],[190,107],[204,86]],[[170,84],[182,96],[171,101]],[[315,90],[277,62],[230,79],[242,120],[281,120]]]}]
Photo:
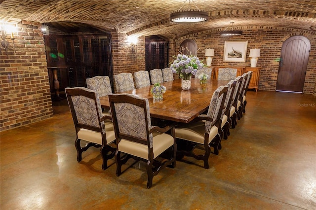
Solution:
[{"label": "second-nearest upholstered chair along the table's right side", "polygon": [[233,100],[233,95],[235,92],[236,81],[235,80],[229,81],[227,83],[227,86],[228,86],[228,91],[227,91],[224,108],[222,112],[222,117],[221,117],[221,128],[222,128],[221,134],[222,134],[222,138],[225,140],[228,139],[229,128],[232,123],[230,120],[230,113],[232,109],[232,100]]}]

